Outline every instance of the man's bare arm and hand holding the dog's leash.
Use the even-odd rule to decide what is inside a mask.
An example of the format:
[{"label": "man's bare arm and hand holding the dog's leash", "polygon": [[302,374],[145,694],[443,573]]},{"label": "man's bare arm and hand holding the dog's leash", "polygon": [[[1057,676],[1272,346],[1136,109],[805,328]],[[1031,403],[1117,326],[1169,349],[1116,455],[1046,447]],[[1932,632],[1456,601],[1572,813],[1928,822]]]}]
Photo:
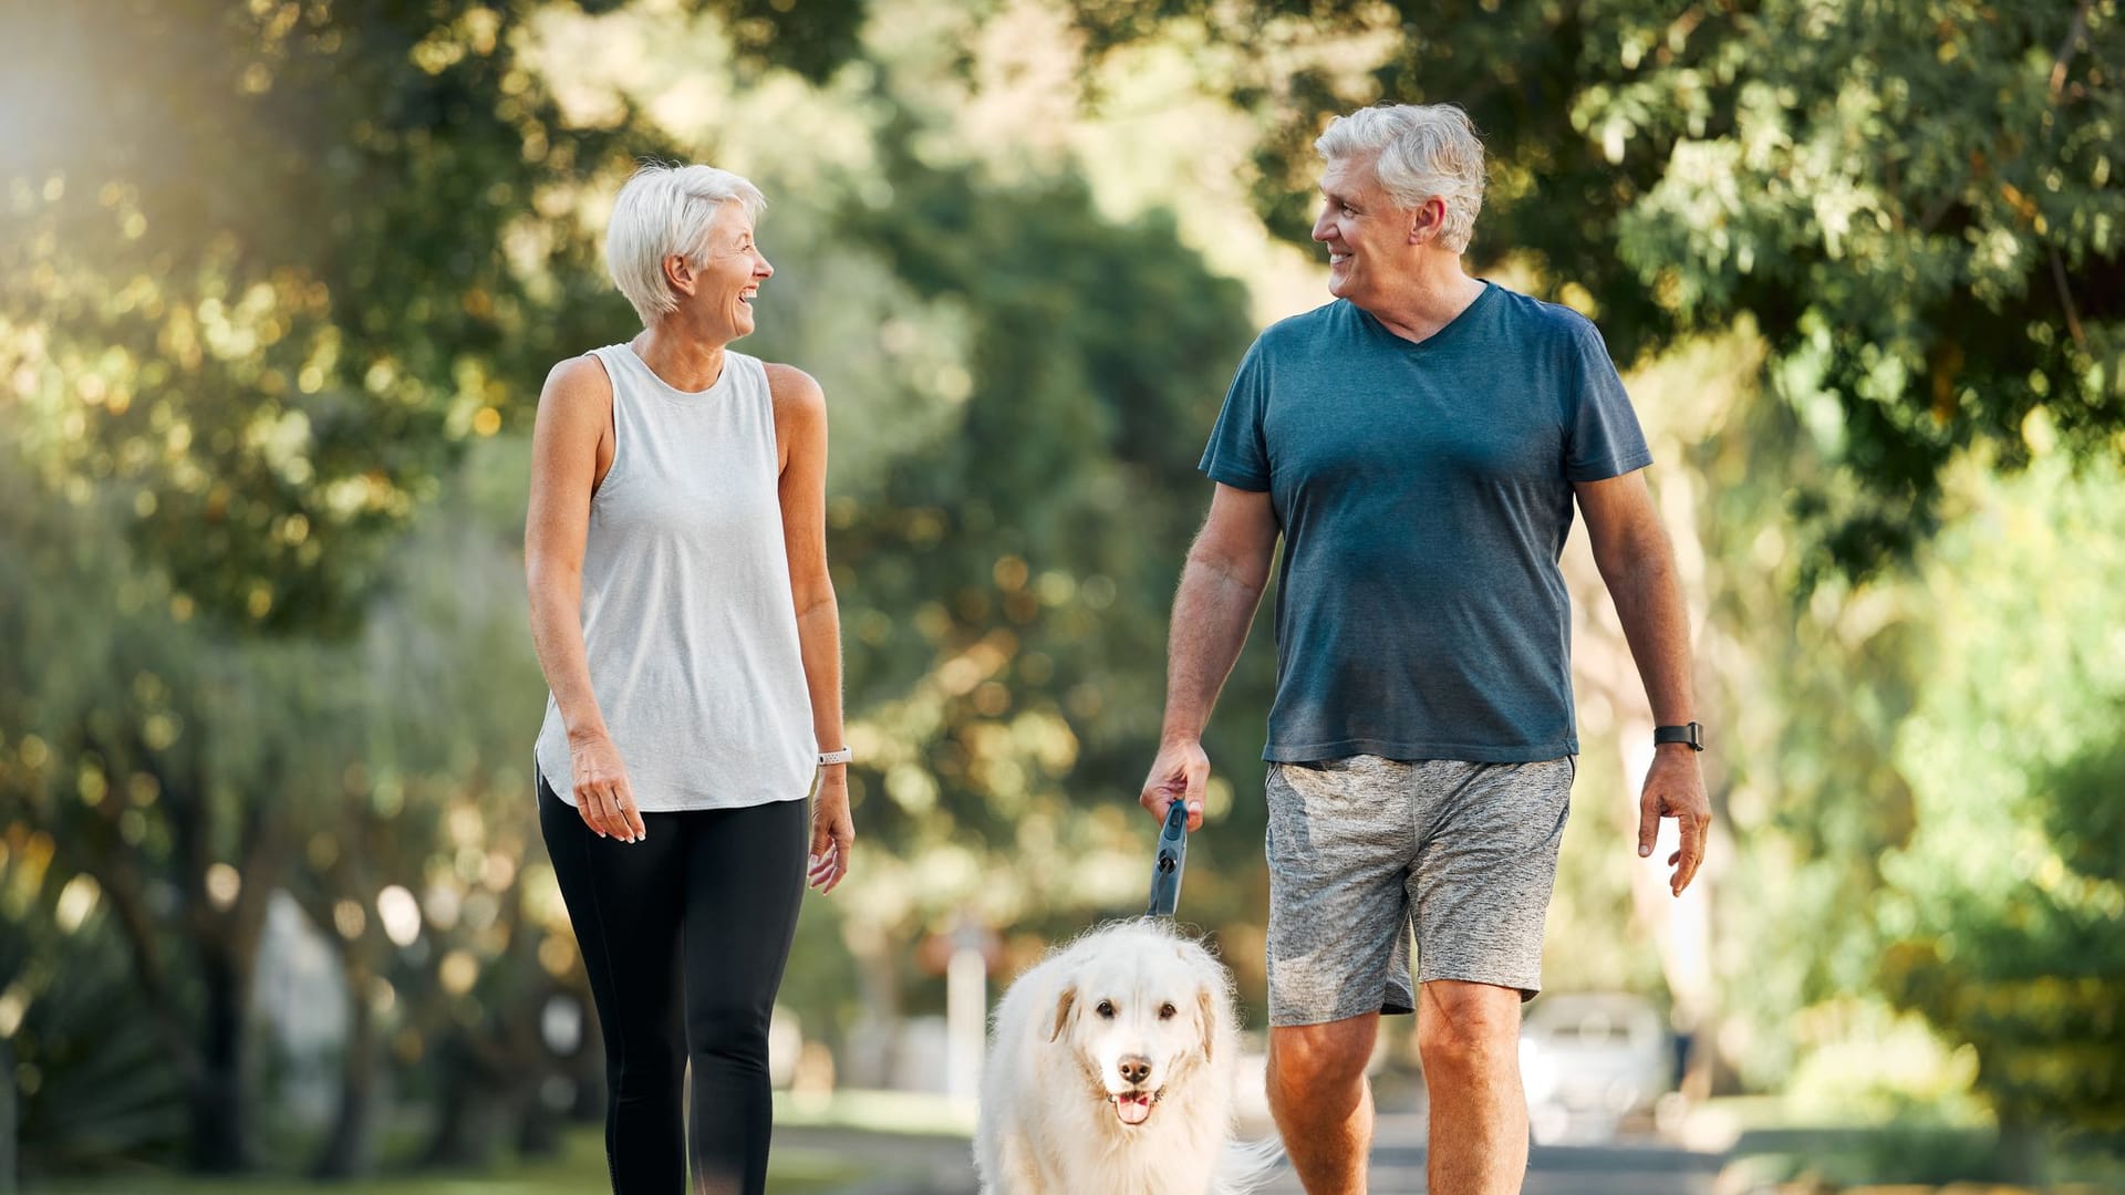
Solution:
[{"label": "man's bare arm and hand holding the dog's leash", "polygon": [[1167,806],[1186,800],[1188,829],[1203,825],[1203,785],[1209,780],[1203,727],[1247,642],[1275,553],[1277,512],[1269,493],[1220,483],[1209,519],[1188,549],[1167,632],[1167,717],[1158,759],[1139,797],[1160,821]]}]

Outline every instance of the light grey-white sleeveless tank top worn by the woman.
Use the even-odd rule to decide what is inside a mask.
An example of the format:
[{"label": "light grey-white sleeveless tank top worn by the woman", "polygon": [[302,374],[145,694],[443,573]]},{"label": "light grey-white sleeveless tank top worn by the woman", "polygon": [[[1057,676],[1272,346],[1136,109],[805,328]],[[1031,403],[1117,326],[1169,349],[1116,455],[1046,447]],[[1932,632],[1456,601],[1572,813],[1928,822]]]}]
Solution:
[{"label": "light grey-white sleeveless tank top worn by the woman", "polygon": [[[627,344],[612,378],[612,468],[582,546],[591,691],[642,812],[801,800],[818,768],[778,500],[767,370],[674,389]],[[567,727],[546,695],[546,785],[576,804]]]}]

